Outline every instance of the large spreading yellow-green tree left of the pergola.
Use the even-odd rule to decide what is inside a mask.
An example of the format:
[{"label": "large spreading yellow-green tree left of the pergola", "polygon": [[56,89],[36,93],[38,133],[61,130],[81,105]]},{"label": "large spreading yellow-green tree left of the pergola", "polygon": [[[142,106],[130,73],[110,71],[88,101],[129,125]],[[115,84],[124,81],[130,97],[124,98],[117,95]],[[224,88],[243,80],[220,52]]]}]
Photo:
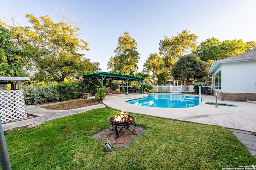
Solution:
[{"label": "large spreading yellow-green tree left of the pergola", "polygon": [[99,63],[92,63],[82,51],[88,51],[88,43],[79,39],[80,28],[68,24],[65,17],[54,23],[47,16],[39,19],[26,14],[32,27],[13,26],[16,41],[34,54],[35,80],[62,82],[66,77],[75,77],[99,70]]}]

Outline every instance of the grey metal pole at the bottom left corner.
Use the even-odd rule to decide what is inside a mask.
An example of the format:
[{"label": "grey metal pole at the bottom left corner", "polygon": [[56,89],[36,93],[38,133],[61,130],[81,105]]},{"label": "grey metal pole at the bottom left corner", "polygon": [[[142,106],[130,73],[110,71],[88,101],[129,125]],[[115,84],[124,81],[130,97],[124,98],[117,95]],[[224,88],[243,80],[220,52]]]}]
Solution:
[{"label": "grey metal pole at the bottom left corner", "polygon": [[1,120],[0,120],[0,163],[1,163],[2,170],[12,170]]}]

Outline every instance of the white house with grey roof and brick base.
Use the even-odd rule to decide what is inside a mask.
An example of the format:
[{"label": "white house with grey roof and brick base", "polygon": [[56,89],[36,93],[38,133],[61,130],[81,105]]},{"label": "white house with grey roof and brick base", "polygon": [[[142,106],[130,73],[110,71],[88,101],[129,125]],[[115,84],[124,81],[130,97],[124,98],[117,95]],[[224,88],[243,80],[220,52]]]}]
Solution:
[{"label": "white house with grey roof and brick base", "polygon": [[214,61],[208,76],[218,99],[256,100],[256,50]]}]

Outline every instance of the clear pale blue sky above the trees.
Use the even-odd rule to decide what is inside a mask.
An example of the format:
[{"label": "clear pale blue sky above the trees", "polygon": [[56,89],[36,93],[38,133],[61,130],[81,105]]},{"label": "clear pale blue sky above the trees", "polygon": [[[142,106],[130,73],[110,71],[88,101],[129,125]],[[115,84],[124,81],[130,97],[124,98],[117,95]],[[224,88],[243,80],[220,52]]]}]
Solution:
[{"label": "clear pale blue sky above the trees", "polygon": [[30,25],[25,14],[49,15],[59,22],[54,8],[80,23],[80,39],[88,43],[84,51],[101,71],[127,31],[137,42],[139,72],[151,53],[159,53],[159,42],[188,29],[198,43],[215,37],[220,41],[242,39],[256,41],[256,0],[8,0],[1,2],[0,19],[14,17],[17,23]]}]

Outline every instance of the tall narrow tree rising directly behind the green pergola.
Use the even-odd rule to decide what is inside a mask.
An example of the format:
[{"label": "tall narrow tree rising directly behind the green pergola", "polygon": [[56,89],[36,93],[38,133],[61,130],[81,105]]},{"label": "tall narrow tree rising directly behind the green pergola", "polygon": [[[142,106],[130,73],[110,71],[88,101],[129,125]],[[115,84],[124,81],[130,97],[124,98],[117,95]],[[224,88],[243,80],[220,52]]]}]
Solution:
[{"label": "tall narrow tree rising directly behind the green pergola", "polygon": [[108,61],[108,69],[111,72],[134,75],[138,70],[138,60],[140,59],[137,50],[137,42],[133,39],[128,32],[120,35],[118,38],[118,45],[114,50],[116,55],[110,57]]}]

